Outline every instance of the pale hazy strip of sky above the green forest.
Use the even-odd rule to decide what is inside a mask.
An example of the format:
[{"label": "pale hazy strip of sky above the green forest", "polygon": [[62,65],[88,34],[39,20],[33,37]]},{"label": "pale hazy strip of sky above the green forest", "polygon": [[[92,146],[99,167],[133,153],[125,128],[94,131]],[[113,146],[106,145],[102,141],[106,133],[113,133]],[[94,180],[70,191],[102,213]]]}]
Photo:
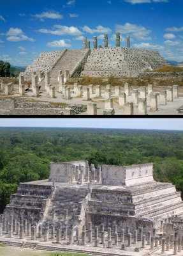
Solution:
[{"label": "pale hazy strip of sky above the green forest", "polygon": [[0,127],[94,127],[183,131],[182,118],[0,118]]}]

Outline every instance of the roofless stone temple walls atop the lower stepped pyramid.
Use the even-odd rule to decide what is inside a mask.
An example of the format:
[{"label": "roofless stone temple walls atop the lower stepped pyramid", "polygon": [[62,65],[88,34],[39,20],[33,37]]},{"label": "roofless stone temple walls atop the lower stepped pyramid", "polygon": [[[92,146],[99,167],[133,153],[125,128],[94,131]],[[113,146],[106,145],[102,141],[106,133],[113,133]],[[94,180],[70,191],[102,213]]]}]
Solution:
[{"label": "roofless stone temple walls atop the lower stepped pyramid", "polygon": [[91,182],[112,186],[133,186],[154,181],[153,164],[133,164],[131,166],[99,165],[89,166],[88,161],[50,163],[52,182]]}]

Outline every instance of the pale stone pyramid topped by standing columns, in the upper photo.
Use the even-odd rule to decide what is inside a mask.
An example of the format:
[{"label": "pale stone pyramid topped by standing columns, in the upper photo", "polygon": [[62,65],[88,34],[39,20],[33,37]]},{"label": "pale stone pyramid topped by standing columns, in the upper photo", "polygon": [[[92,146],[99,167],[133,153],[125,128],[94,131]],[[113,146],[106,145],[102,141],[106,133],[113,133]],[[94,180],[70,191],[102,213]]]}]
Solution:
[{"label": "pale stone pyramid topped by standing columns, in the upper photo", "polygon": [[129,36],[127,47],[121,47],[120,33],[116,35],[116,47],[108,47],[108,35],[104,36],[104,48],[98,46],[97,36],[94,36],[93,44],[94,49],[90,49],[90,42],[84,37],[82,50],[42,52],[26,68],[25,79],[30,80],[33,72],[50,72],[50,84],[56,86],[59,70],[62,70],[62,74],[67,72],[64,79],[73,76],[131,77],[138,76],[143,70],[166,65],[166,61],[157,51],[130,49]]}]

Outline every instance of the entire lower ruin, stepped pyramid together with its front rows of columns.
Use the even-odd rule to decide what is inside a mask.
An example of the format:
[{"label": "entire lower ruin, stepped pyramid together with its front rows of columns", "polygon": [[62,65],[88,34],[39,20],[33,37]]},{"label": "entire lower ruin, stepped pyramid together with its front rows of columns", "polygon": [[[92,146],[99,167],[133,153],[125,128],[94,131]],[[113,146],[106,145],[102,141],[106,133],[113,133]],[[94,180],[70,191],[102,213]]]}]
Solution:
[{"label": "entire lower ruin, stepped pyramid together with its front rows of columns", "polygon": [[20,183],[0,215],[0,243],[95,255],[181,255],[182,231],[180,192],[153,179],[152,163],[50,163],[49,179]]}]

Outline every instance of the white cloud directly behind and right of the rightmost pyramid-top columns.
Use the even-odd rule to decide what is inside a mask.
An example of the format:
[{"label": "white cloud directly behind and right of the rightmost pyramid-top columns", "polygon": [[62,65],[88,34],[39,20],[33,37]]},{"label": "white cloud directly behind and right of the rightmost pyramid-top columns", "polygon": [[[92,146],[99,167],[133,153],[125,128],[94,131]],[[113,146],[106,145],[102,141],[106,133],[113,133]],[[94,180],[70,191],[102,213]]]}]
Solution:
[{"label": "white cloud directly behind and right of the rightmost pyramid-top columns", "polygon": [[144,28],[143,26],[138,26],[135,24],[126,23],[124,25],[115,25],[115,31],[121,34],[132,34],[133,38],[136,40],[151,40],[149,36],[151,31]]}]

